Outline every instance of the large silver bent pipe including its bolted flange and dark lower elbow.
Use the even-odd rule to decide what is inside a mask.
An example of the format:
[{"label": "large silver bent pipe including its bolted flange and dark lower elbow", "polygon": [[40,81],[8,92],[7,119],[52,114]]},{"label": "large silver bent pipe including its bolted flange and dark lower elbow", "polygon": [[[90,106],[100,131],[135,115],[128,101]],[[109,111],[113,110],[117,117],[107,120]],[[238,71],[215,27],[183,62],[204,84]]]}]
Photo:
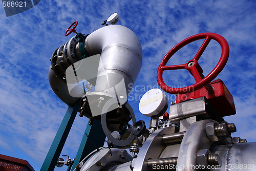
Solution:
[{"label": "large silver bent pipe including its bolted flange and dark lower elbow", "polygon": [[[66,69],[81,57],[78,44],[80,42],[76,41],[74,36],[58,48],[52,56],[55,63],[49,70],[49,81],[53,91],[68,105],[74,104],[78,97],[70,95],[67,83],[63,82],[62,77]],[[88,35],[84,40],[84,46],[89,56],[100,54],[95,92],[127,98],[142,66],[142,48],[136,34],[124,26],[110,25]],[[65,62],[63,56],[69,62]]]}]

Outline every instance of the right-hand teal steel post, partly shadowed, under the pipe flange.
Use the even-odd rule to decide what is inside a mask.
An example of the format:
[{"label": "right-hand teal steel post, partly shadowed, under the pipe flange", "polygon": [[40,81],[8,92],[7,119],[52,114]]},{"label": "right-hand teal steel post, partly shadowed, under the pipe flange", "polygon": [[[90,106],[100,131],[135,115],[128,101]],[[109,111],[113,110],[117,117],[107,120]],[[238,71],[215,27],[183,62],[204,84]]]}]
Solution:
[{"label": "right-hand teal steel post, partly shadowed, under the pipe flange", "polygon": [[[90,120],[88,123],[89,122]],[[82,141],[71,170],[74,170],[76,165],[78,165],[82,159],[94,151],[94,149],[103,146],[105,138],[106,136],[102,130],[101,122],[99,120],[94,119],[91,126],[87,124],[86,131],[83,134]]]}]

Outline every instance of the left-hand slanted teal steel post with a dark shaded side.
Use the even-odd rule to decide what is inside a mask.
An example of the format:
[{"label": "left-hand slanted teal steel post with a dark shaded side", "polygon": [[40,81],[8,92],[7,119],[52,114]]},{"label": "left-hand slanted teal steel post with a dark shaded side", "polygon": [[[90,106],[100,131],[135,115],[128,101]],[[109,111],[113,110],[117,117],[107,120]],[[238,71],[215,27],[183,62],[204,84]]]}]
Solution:
[{"label": "left-hand slanted teal steel post with a dark shaded side", "polygon": [[57,134],[52,142],[49,152],[45,158],[44,163],[41,166],[40,171],[52,171],[54,170],[56,163],[58,161],[59,155],[62,148],[67,140],[71,126],[75,120],[77,111],[79,109],[79,104],[76,103],[73,106],[69,106],[60,126]]}]

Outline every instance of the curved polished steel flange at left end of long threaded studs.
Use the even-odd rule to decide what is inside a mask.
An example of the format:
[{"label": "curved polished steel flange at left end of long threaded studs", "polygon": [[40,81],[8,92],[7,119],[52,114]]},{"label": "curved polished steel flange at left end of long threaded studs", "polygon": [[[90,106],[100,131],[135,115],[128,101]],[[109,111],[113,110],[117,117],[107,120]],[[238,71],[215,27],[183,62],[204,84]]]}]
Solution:
[{"label": "curved polished steel flange at left end of long threaded studs", "polygon": [[175,127],[166,127],[165,129],[159,129],[152,133],[140,148],[140,153],[135,161],[133,171],[148,170],[146,164],[147,160],[150,158],[159,158],[163,149],[165,148],[162,135],[172,134],[174,131]]}]

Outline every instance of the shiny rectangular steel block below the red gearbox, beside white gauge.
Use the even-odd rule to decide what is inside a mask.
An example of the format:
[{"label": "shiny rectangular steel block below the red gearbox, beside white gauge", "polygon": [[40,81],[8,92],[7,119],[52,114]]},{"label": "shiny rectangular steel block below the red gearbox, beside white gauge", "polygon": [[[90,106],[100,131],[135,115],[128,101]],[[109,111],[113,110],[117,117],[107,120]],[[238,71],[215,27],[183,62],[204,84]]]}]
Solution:
[{"label": "shiny rectangular steel block below the red gearbox, beside white gauge", "polygon": [[[170,105],[169,119],[174,123],[191,116],[208,115],[204,97]],[[209,116],[205,116],[209,118]]]}]

